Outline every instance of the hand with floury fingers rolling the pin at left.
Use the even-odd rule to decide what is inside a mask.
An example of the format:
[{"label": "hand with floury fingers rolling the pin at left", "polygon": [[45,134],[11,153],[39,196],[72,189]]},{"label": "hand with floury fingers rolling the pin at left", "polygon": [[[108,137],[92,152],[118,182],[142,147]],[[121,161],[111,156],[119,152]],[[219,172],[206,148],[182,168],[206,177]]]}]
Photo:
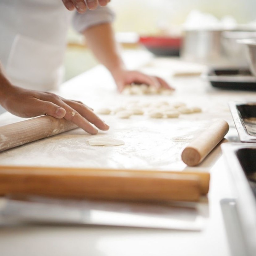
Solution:
[{"label": "hand with floury fingers rolling the pin at left", "polygon": [[2,106],[19,117],[64,117],[90,134],[98,132],[92,124],[100,130],[109,129],[91,108],[80,101],[66,100],[53,93],[26,90],[16,86],[8,87],[3,94]]}]

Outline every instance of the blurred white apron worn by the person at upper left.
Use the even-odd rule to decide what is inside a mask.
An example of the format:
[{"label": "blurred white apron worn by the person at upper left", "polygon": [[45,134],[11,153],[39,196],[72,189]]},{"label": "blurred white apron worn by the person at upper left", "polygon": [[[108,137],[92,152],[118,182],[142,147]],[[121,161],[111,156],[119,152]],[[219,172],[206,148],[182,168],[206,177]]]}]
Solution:
[{"label": "blurred white apron worn by the person at upper left", "polygon": [[13,84],[58,87],[71,15],[61,0],[0,1],[0,60]]}]

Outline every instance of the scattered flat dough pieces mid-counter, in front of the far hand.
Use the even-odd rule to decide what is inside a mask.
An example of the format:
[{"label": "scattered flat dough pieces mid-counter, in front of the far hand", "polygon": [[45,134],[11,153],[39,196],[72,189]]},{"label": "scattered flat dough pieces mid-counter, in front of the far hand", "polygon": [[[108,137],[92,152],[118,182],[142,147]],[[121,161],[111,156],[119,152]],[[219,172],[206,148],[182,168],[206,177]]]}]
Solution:
[{"label": "scattered flat dough pieces mid-counter, in front of the far hand", "polygon": [[132,115],[147,115],[151,118],[177,118],[180,114],[193,114],[202,112],[199,107],[188,107],[183,102],[169,103],[159,101],[155,103],[130,102],[126,106],[113,109],[102,108],[96,111],[100,115],[116,115],[119,118],[130,118]]}]

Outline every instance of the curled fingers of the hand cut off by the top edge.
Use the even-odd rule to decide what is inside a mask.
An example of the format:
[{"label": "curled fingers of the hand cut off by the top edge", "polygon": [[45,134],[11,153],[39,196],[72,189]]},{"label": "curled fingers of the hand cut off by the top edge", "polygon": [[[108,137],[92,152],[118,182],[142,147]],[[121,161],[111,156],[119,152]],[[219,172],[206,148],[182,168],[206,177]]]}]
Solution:
[{"label": "curled fingers of the hand cut off by the top edge", "polygon": [[98,6],[106,6],[110,0],[62,0],[62,2],[69,11],[76,8],[79,13],[84,13],[87,8],[94,10]]}]

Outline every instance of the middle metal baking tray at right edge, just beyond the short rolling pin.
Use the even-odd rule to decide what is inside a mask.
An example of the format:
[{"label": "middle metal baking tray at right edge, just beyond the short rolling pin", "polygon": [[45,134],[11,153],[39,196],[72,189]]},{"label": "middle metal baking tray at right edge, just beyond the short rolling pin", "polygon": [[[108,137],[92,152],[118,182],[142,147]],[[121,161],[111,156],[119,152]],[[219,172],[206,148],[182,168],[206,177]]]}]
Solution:
[{"label": "middle metal baking tray at right edge, just beyond the short rolling pin", "polygon": [[256,143],[256,102],[229,102],[239,139]]}]

